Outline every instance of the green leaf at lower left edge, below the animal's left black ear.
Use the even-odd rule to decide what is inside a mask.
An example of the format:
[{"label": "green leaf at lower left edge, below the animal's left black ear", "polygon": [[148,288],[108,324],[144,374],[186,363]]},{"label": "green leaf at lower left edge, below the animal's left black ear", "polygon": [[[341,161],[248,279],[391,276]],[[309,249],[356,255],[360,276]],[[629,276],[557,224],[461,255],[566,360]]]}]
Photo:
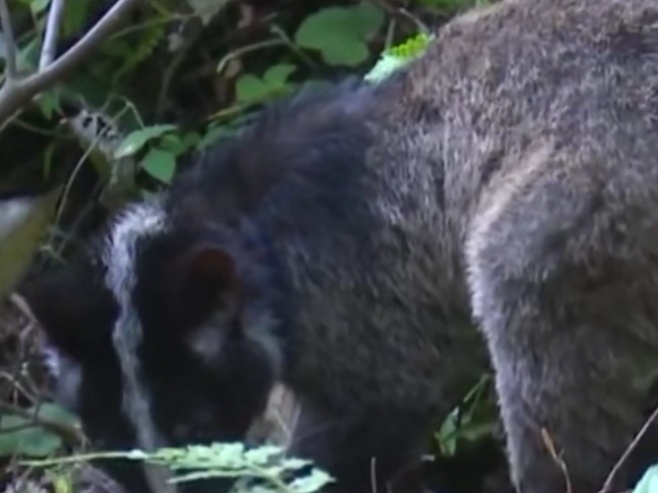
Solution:
[{"label": "green leaf at lower left edge, below the animal's left black ear", "polygon": [[61,445],[60,437],[28,419],[12,414],[0,418],[0,456],[45,457],[56,452]]}]

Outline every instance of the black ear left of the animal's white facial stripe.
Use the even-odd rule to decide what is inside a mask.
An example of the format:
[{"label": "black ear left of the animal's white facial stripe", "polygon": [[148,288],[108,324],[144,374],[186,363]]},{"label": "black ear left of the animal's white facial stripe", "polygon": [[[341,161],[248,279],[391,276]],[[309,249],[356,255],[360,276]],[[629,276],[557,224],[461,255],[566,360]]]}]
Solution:
[{"label": "black ear left of the animal's white facial stripe", "polygon": [[109,291],[89,273],[66,269],[31,283],[24,291],[48,341],[82,361],[107,350],[117,307]]}]

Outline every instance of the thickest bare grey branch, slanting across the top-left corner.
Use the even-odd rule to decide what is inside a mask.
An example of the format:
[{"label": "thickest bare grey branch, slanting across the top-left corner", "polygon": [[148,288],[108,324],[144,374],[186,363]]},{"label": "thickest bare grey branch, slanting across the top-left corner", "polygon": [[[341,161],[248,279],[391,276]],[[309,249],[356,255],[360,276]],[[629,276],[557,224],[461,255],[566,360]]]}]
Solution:
[{"label": "thickest bare grey branch, slanting across the top-left corner", "polygon": [[[30,99],[68,76],[142,1],[118,0],[82,39],[53,63],[25,79],[13,81],[11,84],[5,83],[0,89],[0,128]],[[2,3],[4,0],[0,0],[0,4]]]}]

